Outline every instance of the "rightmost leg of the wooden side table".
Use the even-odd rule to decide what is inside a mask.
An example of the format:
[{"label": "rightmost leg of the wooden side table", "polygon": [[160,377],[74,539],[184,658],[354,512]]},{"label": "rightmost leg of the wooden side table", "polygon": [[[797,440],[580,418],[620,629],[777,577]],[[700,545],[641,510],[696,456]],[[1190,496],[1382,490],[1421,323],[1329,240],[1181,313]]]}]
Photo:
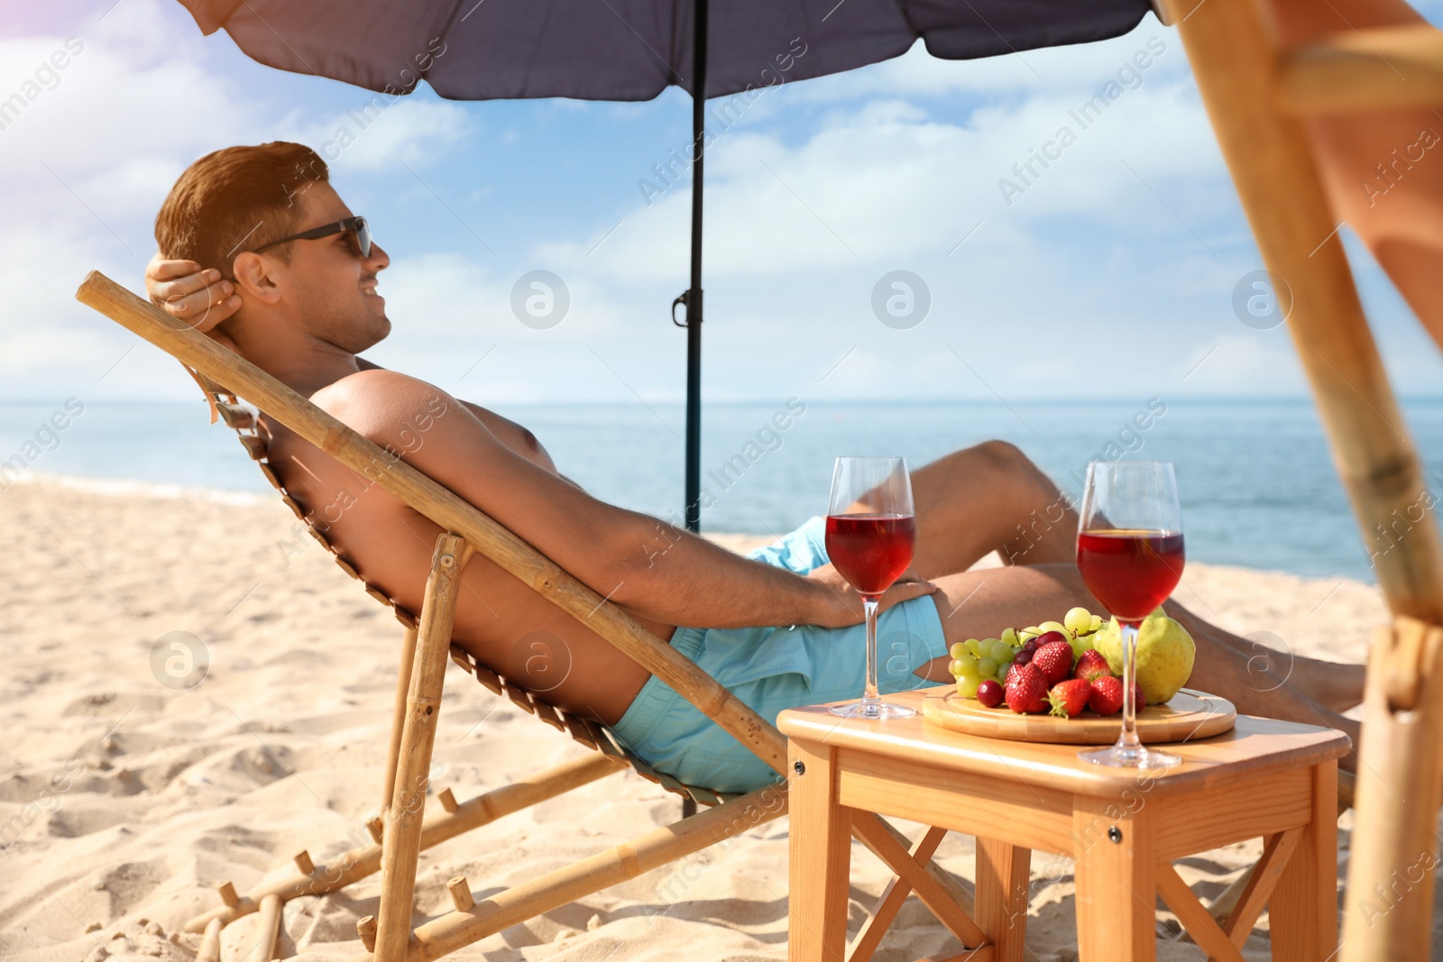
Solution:
[{"label": "rightmost leg of the wooden side table", "polygon": [[1338,948],[1338,763],[1313,767],[1313,821],[1268,899],[1274,962],[1323,962]]}]

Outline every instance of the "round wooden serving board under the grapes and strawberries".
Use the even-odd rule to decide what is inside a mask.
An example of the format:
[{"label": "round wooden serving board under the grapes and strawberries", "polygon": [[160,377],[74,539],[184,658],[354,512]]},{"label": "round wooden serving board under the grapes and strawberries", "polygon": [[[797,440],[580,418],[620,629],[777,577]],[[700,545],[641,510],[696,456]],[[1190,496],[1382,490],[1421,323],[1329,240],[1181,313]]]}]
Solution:
[{"label": "round wooden serving board under the grapes and strawberries", "polygon": [[[984,708],[975,698],[958,695],[954,685],[925,695],[922,717],[962,734],[1053,744],[1113,744],[1123,730],[1121,714],[1019,715],[1006,704]],[[1227,698],[1183,688],[1167,704],[1147,705],[1139,712],[1137,737],[1144,743],[1206,738],[1231,731],[1237,717],[1238,710]]]}]

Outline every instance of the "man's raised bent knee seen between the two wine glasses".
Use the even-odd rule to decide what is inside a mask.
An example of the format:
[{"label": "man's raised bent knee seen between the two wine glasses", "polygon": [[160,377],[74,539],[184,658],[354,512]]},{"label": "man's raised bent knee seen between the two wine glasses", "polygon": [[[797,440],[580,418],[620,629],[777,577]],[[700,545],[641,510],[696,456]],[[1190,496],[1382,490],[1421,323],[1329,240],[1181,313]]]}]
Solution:
[{"label": "man's raised bent knee seen between the two wine glasses", "polygon": [[928,580],[965,571],[990,551],[1004,564],[1075,557],[1076,512],[1056,485],[1006,441],[984,441],[919,467],[912,473],[912,567]]}]

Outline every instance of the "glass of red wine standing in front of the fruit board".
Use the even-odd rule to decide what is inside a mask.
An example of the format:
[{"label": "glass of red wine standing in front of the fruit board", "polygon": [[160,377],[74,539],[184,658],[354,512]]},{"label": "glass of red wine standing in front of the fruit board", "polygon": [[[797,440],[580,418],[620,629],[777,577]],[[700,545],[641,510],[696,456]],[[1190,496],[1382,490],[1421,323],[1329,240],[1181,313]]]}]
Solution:
[{"label": "glass of red wine standing in front of the fruit board", "polygon": [[1177,479],[1166,462],[1092,462],[1078,515],[1078,571],[1123,632],[1123,733],[1110,749],[1078,753],[1113,767],[1154,769],[1182,759],[1137,737],[1137,627],[1182,580]]}]

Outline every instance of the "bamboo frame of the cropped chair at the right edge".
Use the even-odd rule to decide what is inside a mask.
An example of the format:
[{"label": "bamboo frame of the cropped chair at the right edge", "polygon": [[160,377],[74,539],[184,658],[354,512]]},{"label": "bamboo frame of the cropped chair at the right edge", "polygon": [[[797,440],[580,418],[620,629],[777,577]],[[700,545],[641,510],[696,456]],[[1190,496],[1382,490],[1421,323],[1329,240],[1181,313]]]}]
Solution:
[{"label": "bamboo frame of the cropped chair at the right edge", "polygon": [[[1398,512],[1408,516],[1427,483],[1302,118],[1443,105],[1443,32],[1429,25],[1349,29],[1283,49],[1264,0],[1154,0],[1154,9],[1182,35],[1264,264],[1291,287],[1289,333],[1367,539]],[[1414,525],[1374,562],[1392,623],[1374,632],[1368,658],[1342,962],[1423,959],[1431,937],[1443,785],[1436,521]],[[1414,874],[1421,877],[1414,881]],[[1385,893],[1381,907],[1375,893]]]}]

